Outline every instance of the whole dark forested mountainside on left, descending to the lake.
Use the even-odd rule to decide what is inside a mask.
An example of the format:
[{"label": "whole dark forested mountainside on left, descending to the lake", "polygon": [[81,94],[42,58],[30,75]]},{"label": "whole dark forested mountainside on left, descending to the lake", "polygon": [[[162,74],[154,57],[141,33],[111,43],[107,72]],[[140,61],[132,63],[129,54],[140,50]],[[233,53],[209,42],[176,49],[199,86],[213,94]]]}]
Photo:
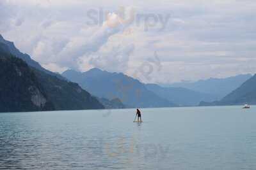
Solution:
[{"label": "whole dark forested mountainside on left, descending to the lake", "polygon": [[36,69],[0,42],[0,112],[104,109],[77,83]]}]

